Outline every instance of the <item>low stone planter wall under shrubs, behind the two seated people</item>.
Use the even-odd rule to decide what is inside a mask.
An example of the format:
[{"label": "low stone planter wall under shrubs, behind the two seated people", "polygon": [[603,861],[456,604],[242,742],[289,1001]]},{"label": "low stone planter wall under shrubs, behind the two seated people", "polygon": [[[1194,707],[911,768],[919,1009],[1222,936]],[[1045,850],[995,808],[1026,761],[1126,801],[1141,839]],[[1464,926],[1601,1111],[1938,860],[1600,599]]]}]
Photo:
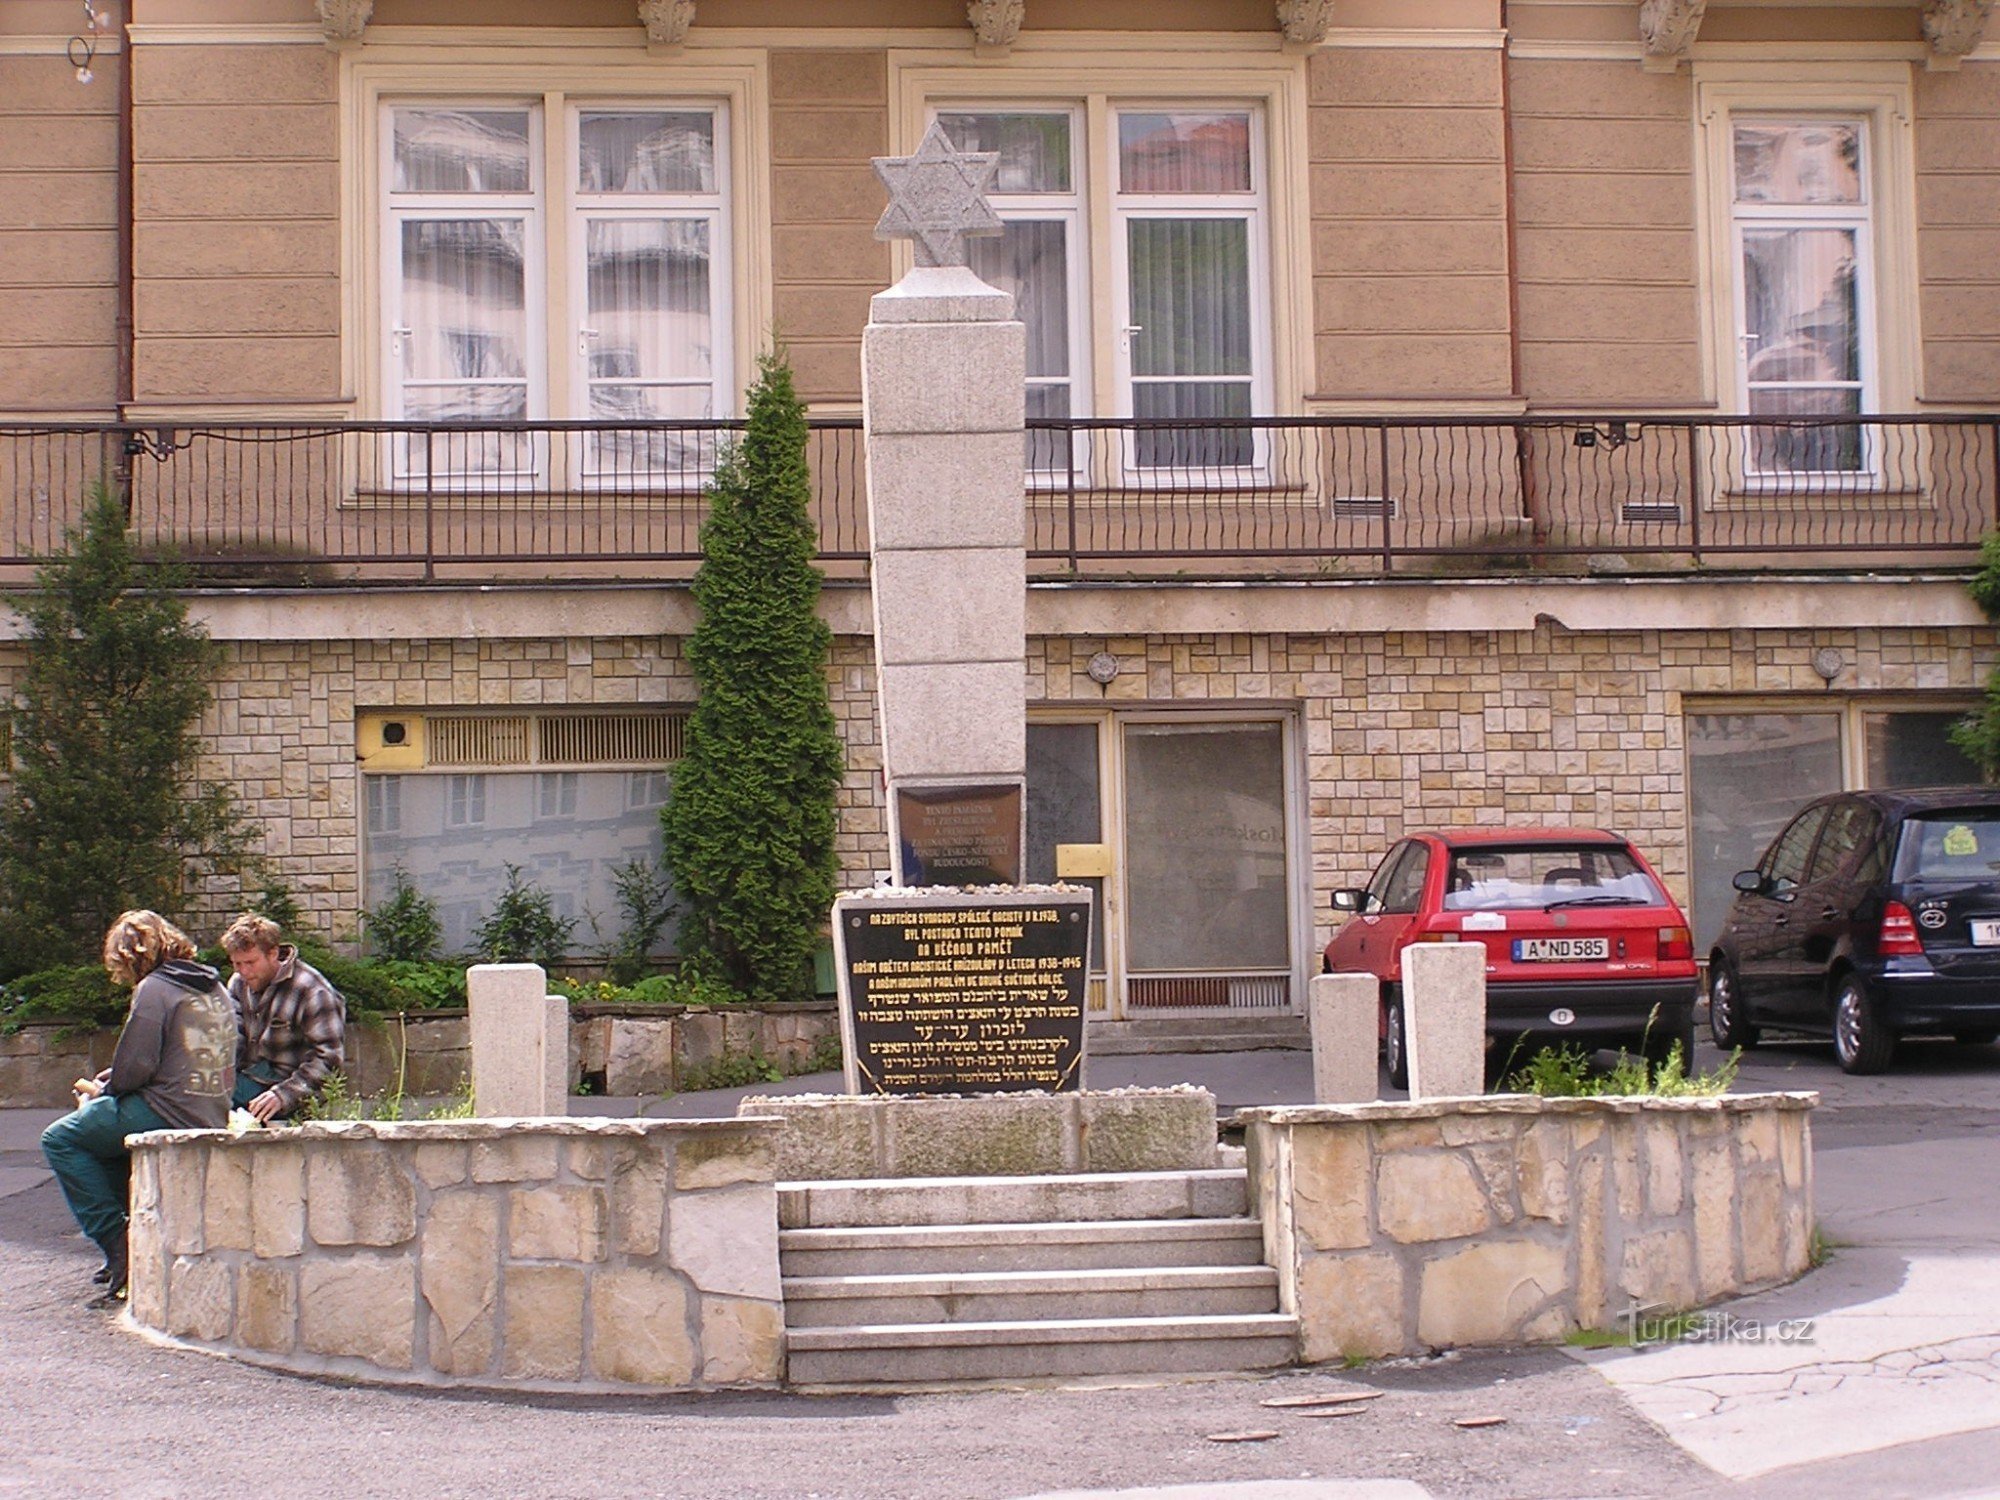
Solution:
[{"label": "low stone planter wall under shrubs, behind the two seated people", "polygon": [[[570,1006],[570,1086],[602,1094],[666,1094],[696,1068],[760,1056],[794,1072],[822,1038],[840,1036],[832,1000],[790,1006]],[[74,1024],[0,1034],[0,1108],[64,1108],[70,1084],[110,1066],[114,1030]],[[456,1094],[472,1070],[466,1012],[356,1016],[348,1026],[348,1092]]]}]

